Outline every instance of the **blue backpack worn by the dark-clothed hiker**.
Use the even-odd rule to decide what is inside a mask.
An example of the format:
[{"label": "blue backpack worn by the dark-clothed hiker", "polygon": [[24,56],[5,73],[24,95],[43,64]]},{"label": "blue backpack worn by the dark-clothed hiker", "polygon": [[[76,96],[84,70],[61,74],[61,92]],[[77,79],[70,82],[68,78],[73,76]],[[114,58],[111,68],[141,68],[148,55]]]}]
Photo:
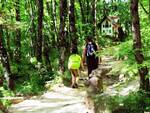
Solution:
[{"label": "blue backpack worn by the dark-clothed hiker", "polygon": [[94,56],[95,51],[97,51],[97,46],[95,43],[86,45],[86,56]]}]

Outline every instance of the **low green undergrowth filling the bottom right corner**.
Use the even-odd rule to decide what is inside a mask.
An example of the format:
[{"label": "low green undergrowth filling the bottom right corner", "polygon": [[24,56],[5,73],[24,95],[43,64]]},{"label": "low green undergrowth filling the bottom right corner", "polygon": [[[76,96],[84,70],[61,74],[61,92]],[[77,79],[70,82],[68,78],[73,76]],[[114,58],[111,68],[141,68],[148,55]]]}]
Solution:
[{"label": "low green undergrowth filling the bottom right corner", "polygon": [[96,113],[106,109],[111,113],[150,112],[150,98],[143,92],[132,92],[127,96],[95,96]]}]

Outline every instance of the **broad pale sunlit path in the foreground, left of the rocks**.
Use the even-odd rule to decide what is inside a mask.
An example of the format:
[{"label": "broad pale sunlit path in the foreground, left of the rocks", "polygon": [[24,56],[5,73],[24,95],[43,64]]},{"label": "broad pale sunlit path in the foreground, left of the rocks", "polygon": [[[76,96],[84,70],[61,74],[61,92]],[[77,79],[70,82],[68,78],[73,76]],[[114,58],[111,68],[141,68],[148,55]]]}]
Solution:
[{"label": "broad pale sunlit path in the foreground, left of the rocks", "polygon": [[10,113],[94,113],[85,105],[86,91],[58,86],[9,108]]}]

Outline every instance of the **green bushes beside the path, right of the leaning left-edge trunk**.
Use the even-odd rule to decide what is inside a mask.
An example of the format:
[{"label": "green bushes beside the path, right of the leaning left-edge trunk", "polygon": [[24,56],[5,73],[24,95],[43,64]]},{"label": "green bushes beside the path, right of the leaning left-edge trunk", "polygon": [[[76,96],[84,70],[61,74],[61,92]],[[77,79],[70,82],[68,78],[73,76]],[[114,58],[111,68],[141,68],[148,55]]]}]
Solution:
[{"label": "green bushes beside the path, right of the leaning left-edge trunk", "polygon": [[24,59],[21,64],[11,66],[13,78],[16,82],[16,92],[23,95],[38,94],[44,90],[44,84],[55,76],[53,72],[47,71],[46,66],[38,63],[33,57],[28,61]]}]

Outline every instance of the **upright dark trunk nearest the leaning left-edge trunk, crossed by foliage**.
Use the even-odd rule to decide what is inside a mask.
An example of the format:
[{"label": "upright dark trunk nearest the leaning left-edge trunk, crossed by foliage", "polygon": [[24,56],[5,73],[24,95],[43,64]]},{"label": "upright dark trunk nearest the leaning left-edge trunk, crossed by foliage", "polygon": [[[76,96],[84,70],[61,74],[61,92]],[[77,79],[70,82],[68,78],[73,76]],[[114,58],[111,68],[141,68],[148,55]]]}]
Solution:
[{"label": "upright dark trunk nearest the leaning left-edge trunk, crossed by foliage", "polygon": [[[16,0],[16,21],[20,21],[20,1]],[[16,49],[14,50],[14,59],[16,63],[21,62],[21,31],[20,29],[16,30],[16,39],[15,39]]]}]

